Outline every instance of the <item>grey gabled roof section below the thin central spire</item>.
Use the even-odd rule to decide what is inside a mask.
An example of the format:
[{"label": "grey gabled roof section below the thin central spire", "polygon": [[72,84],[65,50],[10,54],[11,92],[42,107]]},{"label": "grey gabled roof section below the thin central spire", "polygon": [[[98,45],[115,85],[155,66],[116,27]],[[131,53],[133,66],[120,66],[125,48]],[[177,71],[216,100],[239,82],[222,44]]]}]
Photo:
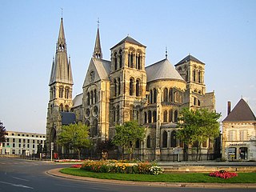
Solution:
[{"label": "grey gabled roof section below the thin central spire", "polygon": [[109,74],[110,74],[110,61],[103,60],[101,58],[91,58],[90,64],[86,73],[86,78],[83,83],[84,86],[88,86],[90,82],[90,73],[94,71],[94,82],[98,82],[100,80],[107,80],[109,81]]}]

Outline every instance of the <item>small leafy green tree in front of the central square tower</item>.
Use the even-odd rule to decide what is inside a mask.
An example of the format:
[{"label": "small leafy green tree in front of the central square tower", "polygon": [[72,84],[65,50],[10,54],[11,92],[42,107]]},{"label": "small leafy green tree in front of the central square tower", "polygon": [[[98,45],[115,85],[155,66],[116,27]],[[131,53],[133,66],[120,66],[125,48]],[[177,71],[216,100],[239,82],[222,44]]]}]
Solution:
[{"label": "small leafy green tree in front of the central square tower", "polygon": [[113,138],[115,146],[122,147],[122,158],[124,148],[127,147],[129,158],[131,159],[134,152],[135,142],[139,139],[144,139],[146,130],[144,127],[139,126],[136,121],[125,122],[122,126],[115,126],[116,133]]}]

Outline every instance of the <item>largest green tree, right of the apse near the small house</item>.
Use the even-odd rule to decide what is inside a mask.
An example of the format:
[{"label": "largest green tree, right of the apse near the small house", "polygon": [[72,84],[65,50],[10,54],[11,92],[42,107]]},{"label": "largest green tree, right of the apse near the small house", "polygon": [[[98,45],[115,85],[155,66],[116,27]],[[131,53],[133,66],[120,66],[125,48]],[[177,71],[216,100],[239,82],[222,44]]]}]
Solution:
[{"label": "largest green tree, right of the apse near the small house", "polygon": [[208,138],[217,138],[219,135],[218,118],[221,114],[206,109],[189,110],[184,108],[178,118],[177,138],[181,139],[186,146],[196,143],[198,160],[199,147]]}]

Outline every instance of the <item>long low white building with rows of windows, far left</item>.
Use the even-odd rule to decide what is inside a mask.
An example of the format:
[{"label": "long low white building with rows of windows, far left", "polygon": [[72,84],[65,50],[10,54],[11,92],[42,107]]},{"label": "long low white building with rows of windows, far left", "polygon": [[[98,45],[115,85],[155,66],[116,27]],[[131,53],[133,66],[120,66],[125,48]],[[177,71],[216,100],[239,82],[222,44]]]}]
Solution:
[{"label": "long low white building with rows of windows, far left", "polygon": [[0,143],[0,154],[37,154],[38,145],[45,145],[46,134],[7,131],[6,142]]}]

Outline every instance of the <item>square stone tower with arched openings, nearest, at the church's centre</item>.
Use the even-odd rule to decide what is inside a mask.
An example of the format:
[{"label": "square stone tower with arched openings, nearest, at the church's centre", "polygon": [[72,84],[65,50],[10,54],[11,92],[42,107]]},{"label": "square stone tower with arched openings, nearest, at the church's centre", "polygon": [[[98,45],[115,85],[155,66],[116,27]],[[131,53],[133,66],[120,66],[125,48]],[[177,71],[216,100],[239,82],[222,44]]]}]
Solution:
[{"label": "square stone tower with arched openings, nearest, at the church's centre", "polygon": [[127,36],[110,50],[110,135],[113,135],[116,124],[130,120],[142,123],[146,46]]}]

